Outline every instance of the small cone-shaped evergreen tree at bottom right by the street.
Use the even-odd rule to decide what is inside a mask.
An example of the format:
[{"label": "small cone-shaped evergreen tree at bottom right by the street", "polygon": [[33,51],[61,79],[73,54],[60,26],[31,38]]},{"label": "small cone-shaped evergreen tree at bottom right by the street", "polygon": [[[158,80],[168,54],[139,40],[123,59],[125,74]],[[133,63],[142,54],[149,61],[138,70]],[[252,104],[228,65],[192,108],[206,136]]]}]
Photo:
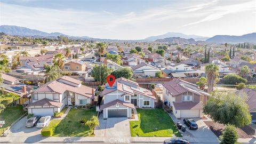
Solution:
[{"label": "small cone-shaped evergreen tree at bottom right by the street", "polygon": [[238,134],[236,131],[236,127],[233,125],[227,125],[220,144],[235,144],[238,140]]}]

